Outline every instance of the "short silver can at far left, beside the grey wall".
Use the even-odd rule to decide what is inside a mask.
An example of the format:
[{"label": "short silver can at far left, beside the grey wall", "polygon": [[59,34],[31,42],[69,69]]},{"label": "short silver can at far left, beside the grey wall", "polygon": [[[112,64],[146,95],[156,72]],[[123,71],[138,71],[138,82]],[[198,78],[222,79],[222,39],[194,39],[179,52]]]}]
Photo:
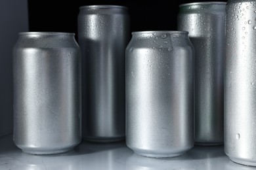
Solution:
[{"label": "short silver can at far left, beside the grey wall", "polygon": [[74,33],[23,32],[13,47],[14,135],[29,154],[81,142],[81,51]]}]

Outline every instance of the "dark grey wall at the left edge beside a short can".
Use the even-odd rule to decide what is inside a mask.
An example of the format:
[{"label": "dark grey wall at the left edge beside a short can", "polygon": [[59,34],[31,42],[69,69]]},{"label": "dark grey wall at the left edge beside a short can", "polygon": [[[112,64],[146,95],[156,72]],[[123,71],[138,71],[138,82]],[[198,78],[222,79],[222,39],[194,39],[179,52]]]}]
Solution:
[{"label": "dark grey wall at the left edge beside a short can", "polygon": [[0,136],[12,132],[12,46],[28,31],[27,0],[0,0]]}]

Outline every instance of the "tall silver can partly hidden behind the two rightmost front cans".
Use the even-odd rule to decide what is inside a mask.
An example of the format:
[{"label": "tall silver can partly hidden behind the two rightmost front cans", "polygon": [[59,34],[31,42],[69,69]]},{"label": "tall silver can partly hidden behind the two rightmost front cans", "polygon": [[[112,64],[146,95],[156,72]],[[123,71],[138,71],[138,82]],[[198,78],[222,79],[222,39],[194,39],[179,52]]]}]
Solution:
[{"label": "tall silver can partly hidden behind the two rightmost front cans", "polygon": [[224,55],[226,2],[179,6],[178,30],[188,31],[195,48],[195,144],[224,142]]}]

